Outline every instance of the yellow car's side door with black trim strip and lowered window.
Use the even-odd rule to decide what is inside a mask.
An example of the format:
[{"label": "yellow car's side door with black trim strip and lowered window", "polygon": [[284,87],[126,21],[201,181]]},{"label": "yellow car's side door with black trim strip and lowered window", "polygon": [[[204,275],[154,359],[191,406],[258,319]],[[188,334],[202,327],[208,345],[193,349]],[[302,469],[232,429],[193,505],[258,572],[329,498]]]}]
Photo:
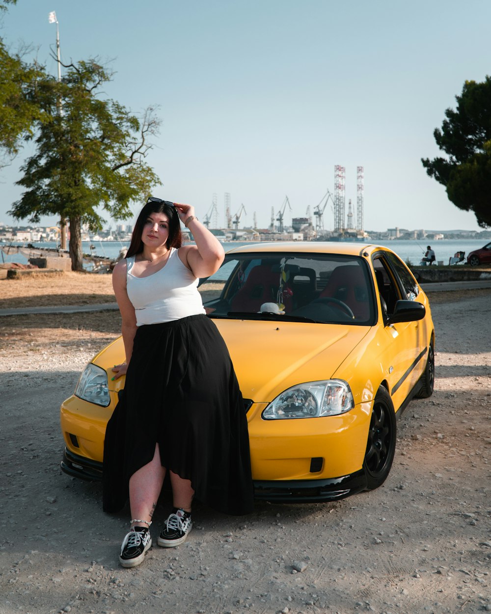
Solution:
[{"label": "yellow car's side door with black trim strip and lowered window", "polygon": [[423,372],[426,348],[419,322],[388,324],[387,316],[393,313],[396,301],[416,300],[419,289],[404,263],[392,252],[374,254],[373,266],[380,295],[387,305],[382,366],[397,410]]}]

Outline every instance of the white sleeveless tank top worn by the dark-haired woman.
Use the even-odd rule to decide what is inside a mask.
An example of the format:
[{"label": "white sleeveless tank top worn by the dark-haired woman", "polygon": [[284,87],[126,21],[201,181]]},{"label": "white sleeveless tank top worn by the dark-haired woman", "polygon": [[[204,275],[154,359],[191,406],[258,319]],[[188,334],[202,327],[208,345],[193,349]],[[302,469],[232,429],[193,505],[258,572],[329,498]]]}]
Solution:
[{"label": "white sleeveless tank top worn by the dark-haired woman", "polygon": [[131,273],[135,258],[126,258],[126,291],[134,306],[137,326],[206,313],[198,292],[199,280],[181,262],[175,247],[171,248],[165,266],[147,277]]}]

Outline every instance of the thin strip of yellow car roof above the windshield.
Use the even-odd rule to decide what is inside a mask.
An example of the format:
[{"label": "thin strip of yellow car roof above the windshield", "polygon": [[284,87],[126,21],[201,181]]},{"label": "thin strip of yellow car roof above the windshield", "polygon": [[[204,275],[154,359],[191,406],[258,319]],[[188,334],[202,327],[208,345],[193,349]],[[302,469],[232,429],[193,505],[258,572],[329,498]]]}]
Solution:
[{"label": "thin strip of yellow car roof above the windshield", "polygon": [[310,254],[342,254],[369,257],[373,252],[391,251],[387,247],[357,241],[265,241],[232,247],[227,254],[298,252]]}]

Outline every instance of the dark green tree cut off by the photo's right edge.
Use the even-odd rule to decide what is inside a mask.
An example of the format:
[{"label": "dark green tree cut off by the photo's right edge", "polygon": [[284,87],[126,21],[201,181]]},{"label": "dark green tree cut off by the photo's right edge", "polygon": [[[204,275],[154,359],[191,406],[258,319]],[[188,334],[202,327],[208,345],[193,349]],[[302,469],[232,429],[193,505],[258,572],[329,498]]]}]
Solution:
[{"label": "dark green tree cut off by the photo's right edge", "polygon": [[466,81],[455,96],[457,110],[447,109],[436,144],[447,157],[422,158],[430,177],[446,187],[452,203],[473,211],[482,228],[491,226],[491,77]]}]

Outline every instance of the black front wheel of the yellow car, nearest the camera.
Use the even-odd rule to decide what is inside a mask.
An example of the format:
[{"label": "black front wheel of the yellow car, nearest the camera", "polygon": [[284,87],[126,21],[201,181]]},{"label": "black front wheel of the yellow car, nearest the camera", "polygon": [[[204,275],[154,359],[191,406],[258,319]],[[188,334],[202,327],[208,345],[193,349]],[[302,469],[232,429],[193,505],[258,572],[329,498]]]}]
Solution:
[{"label": "black front wheel of the yellow car, nearest the camera", "polygon": [[373,402],[363,471],[366,490],[379,488],[390,472],[395,454],[396,420],[392,398],[381,386]]}]

